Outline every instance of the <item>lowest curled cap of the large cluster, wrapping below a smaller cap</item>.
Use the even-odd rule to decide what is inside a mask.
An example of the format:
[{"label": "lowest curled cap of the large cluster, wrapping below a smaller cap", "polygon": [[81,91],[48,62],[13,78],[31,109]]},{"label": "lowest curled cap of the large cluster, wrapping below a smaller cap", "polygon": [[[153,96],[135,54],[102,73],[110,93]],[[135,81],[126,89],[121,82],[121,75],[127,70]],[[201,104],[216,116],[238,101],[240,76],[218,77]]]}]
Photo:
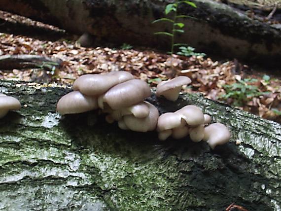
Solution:
[{"label": "lowest curled cap of the large cluster, wrapping below a smaller cap", "polygon": [[147,132],[153,131],[157,125],[157,119],[159,112],[157,108],[147,102],[145,102],[149,108],[149,115],[144,118],[136,118],[133,115],[123,116],[125,125],[132,131]]}]

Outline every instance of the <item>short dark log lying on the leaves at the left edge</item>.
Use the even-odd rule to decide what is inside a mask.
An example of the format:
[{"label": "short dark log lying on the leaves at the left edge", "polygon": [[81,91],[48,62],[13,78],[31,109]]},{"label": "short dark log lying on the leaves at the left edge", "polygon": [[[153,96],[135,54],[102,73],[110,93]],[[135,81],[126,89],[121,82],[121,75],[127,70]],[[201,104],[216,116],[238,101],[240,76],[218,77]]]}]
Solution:
[{"label": "short dark log lying on the leaves at the left edge", "polygon": [[49,58],[38,55],[4,55],[0,56],[0,70],[13,70],[25,68],[42,68],[53,70],[62,64],[58,58]]}]

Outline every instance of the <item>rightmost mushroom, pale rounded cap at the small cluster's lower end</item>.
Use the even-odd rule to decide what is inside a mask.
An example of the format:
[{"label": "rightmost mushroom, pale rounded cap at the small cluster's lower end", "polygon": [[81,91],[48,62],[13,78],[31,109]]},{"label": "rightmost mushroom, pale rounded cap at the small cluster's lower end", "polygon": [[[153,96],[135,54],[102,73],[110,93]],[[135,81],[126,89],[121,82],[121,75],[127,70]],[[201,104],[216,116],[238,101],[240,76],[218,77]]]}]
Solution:
[{"label": "rightmost mushroom, pale rounded cap at the small cluster's lower end", "polygon": [[212,149],[216,145],[224,144],[230,140],[230,132],[228,128],[221,123],[213,123],[205,128],[204,141],[210,145]]}]

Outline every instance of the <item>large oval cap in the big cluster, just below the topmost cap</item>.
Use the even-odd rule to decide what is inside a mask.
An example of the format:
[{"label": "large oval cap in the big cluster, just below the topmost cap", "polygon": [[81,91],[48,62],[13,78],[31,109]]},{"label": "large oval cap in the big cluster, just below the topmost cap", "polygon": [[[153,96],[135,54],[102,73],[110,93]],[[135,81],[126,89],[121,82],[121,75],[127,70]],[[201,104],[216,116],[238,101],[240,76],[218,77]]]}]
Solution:
[{"label": "large oval cap in the big cluster, just below the topmost cap", "polygon": [[144,81],[132,79],[109,89],[103,97],[99,98],[99,106],[101,107],[105,102],[112,109],[118,110],[138,104],[150,95],[150,88]]}]

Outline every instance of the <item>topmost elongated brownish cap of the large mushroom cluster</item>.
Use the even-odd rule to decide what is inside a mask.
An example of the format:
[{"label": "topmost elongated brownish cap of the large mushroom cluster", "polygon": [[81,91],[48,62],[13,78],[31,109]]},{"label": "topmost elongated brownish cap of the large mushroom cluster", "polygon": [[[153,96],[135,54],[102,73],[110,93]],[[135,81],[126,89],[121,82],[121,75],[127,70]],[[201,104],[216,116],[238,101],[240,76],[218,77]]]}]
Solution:
[{"label": "topmost elongated brownish cap of the large mushroom cluster", "polygon": [[126,71],[112,71],[107,74],[85,74],[73,83],[73,90],[79,90],[88,96],[104,94],[112,86],[133,79],[134,76]]}]

